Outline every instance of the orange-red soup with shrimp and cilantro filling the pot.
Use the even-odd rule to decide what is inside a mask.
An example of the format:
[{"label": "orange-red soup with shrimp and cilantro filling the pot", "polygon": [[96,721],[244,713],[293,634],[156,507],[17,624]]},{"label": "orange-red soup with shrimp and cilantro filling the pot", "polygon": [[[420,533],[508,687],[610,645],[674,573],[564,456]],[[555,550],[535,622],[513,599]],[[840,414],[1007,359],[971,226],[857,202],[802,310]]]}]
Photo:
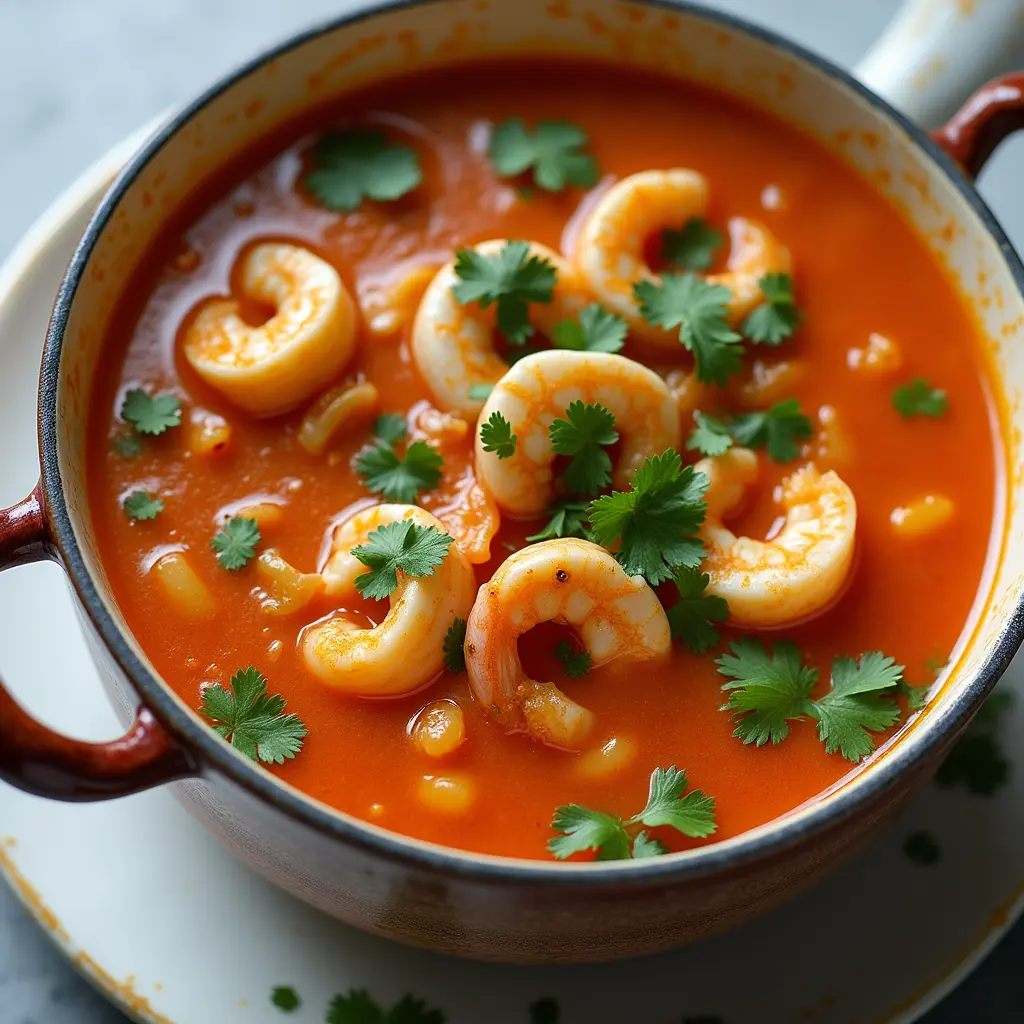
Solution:
[{"label": "orange-red soup with shrimp and cilantro filling the pot", "polygon": [[139,268],[89,422],[168,685],[310,797],[513,857],[688,849],[857,770],[969,628],[1001,472],[897,212],[761,112],[594,71],[264,140]]}]

